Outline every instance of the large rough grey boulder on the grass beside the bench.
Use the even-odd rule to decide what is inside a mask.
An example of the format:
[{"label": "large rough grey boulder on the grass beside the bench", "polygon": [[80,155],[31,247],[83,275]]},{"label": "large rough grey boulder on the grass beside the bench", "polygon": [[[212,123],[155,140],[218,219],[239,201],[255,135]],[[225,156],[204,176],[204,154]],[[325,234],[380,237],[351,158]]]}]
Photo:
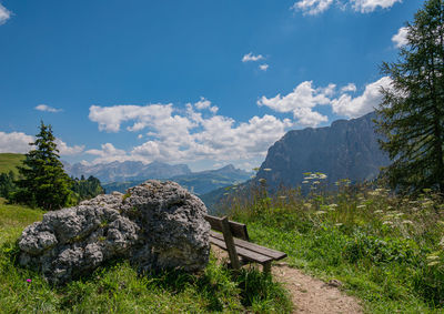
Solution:
[{"label": "large rough grey boulder on the grass beside the bench", "polygon": [[203,270],[210,254],[206,207],[175,182],[150,180],[99,195],[80,205],[48,212],[19,239],[23,266],[53,284],[127,257],[141,273]]}]

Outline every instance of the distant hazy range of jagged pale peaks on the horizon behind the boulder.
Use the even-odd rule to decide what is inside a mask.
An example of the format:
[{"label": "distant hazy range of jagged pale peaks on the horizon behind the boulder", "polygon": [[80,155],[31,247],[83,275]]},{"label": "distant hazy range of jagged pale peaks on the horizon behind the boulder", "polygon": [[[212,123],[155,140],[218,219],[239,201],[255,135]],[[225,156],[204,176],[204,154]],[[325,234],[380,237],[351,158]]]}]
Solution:
[{"label": "distant hazy range of jagged pale peaks on the horizon behind the boulder", "polygon": [[63,163],[64,170],[69,175],[80,178],[84,175],[93,175],[102,183],[122,182],[122,181],[141,181],[148,179],[169,179],[175,175],[190,174],[191,170],[186,164],[170,165],[162,162],[152,162],[143,164],[138,161],[99,163],[94,165],[84,165],[75,163],[70,165]]}]

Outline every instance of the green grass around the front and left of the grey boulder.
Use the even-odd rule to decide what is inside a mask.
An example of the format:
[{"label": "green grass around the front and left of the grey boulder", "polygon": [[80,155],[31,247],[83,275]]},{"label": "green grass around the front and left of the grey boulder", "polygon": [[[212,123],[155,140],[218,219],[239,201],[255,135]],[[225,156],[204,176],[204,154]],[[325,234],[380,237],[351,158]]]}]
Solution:
[{"label": "green grass around the front and left of the grey boulder", "polygon": [[195,275],[139,276],[128,262],[114,261],[65,286],[50,286],[17,264],[17,239],[42,214],[0,199],[0,313],[291,313],[286,291],[272,277],[255,269],[233,276],[213,256]]}]

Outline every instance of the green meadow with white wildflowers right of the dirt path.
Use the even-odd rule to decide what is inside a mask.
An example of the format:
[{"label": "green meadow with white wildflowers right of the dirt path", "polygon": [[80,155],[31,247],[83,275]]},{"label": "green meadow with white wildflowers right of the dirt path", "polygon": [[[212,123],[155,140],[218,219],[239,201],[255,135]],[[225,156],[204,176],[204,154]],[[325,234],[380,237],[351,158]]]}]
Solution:
[{"label": "green meadow with white wildflowers right of the dirt path", "polygon": [[443,313],[443,201],[389,192],[317,188],[271,197],[259,188],[228,210],[248,224],[253,242],[286,252],[309,274],[340,280],[369,313]]}]

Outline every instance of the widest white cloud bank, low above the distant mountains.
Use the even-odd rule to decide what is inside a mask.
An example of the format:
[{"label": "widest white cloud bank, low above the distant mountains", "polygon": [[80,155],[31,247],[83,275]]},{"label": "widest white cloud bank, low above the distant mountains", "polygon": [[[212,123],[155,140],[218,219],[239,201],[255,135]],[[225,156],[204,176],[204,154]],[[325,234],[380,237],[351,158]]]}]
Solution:
[{"label": "widest white cloud bank, low above the distant mountains", "polygon": [[[87,151],[97,156],[94,163],[112,160],[173,163],[255,159],[264,156],[268,148],[292,125],[289,119],[280,120],[266,114],[238,123],[231,118],[216,115],[215,107],[204,98],[194,104],[186,104],[185,111],[173,109],[171,104],[157,104],[158,111],[163,113],[155,119],[151,119],[151,107],[91,107],[90,119],[99,124],[101,131],[119,131],[123,121],[149,131],[145,133],[147,141],[128,152],[111,143],[103,144],[100,150]],[[213,111],[213,114],[202,110]],[[129,118],[130,111],[139,115]],[[132,131],[133,126],[127,130]]]}]

